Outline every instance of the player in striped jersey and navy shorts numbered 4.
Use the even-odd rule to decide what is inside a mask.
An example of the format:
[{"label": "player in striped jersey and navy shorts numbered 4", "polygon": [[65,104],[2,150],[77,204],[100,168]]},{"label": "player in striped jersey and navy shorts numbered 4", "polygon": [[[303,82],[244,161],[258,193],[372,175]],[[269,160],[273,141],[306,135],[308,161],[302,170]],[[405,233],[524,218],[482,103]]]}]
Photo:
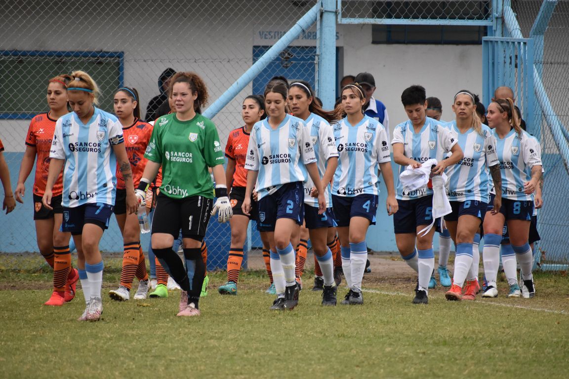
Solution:
[{"label": "player in striped jersey and navy shorts numbered 4", "polygon": [[341,245],[342,268],[349,291],[343,305],[363,304],[361,282],[368,260],[365,234],[376,223],[378,169],[387,187],[387,214],[397,214],[387,133],[380,122],[364,115],[364,90],[348,84],[341,92],[346,117],[334,126],[339,152],[332,203]]}]

